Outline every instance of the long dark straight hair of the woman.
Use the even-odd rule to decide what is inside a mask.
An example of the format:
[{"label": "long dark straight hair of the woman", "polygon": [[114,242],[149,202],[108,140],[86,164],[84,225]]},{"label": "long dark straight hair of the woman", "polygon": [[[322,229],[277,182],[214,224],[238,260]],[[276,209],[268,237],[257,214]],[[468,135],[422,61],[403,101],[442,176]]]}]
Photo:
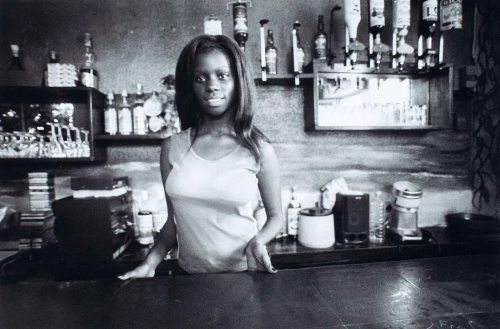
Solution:
[{"label": "long dark straight hair of the woman", "polygon": [[179,113],[182,130],[198,127],[203,120],[203,111],[193,91],[194,64],[196,56],[212,50],[220,50],[229,59],[235,73],[235,102],[231,113],[233,128],[239,143],[252,152],[260,162],[259,141],[268,139],[253,125],[255,84],[252,69],[240,47],[224,35],[201,35],[191,40],[181,52],[175,70],[175,105]]}]

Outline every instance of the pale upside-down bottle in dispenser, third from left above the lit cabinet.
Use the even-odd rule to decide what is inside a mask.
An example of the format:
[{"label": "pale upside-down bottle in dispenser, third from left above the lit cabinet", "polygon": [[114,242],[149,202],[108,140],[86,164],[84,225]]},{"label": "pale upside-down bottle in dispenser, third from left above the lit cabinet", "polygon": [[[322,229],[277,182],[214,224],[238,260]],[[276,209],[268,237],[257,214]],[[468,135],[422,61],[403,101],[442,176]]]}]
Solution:
[{"label": "pale upside-down bottle in dispenser, third from left above the lit cabinet", "polygon": [[413,54],[414,48],[406,43],[410,27],[410,0],[394,0],[393,4],[393,28],[392,34],[392,68],[403,70],[406,56]]}]

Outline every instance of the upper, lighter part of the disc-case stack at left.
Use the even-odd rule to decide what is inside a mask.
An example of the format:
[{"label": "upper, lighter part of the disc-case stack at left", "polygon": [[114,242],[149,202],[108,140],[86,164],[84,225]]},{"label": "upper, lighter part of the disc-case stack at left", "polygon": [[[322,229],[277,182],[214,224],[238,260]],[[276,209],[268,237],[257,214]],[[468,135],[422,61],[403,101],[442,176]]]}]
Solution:
[{"label": "upper, lighter part of the disc-case stack at left", "polygon": [[55,200],[54,176],[46,172],[28,173],[30,209],[36,211],[52,210]]}]

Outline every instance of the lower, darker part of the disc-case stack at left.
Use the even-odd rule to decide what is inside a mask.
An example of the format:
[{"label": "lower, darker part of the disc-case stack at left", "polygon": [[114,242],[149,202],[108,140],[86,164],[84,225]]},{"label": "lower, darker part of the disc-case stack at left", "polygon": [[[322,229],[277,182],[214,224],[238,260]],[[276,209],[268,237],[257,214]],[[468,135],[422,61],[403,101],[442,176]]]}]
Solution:
[{"label": "lower, darker part of the disc-case stack at left", "polygon": [[42,249],[55,242],[54,214],[48,211],[21,212],[19,250]]}]

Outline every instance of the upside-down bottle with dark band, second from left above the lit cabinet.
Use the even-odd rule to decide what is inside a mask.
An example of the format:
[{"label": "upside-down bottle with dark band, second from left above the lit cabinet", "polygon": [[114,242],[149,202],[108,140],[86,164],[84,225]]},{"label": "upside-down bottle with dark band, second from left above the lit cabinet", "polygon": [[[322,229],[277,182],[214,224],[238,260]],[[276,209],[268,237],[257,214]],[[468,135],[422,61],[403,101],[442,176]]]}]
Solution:
[{"label": "upside-down bottle with dark band, second from left above the lit cabinet", "polygon": [[380,70],[382,54],[390,51],[389,46],[382,43],[380,39],[380,33],[382,33],[384,28],[384,0],[370,0],[369,66],[375,66],[377,72]]}]

